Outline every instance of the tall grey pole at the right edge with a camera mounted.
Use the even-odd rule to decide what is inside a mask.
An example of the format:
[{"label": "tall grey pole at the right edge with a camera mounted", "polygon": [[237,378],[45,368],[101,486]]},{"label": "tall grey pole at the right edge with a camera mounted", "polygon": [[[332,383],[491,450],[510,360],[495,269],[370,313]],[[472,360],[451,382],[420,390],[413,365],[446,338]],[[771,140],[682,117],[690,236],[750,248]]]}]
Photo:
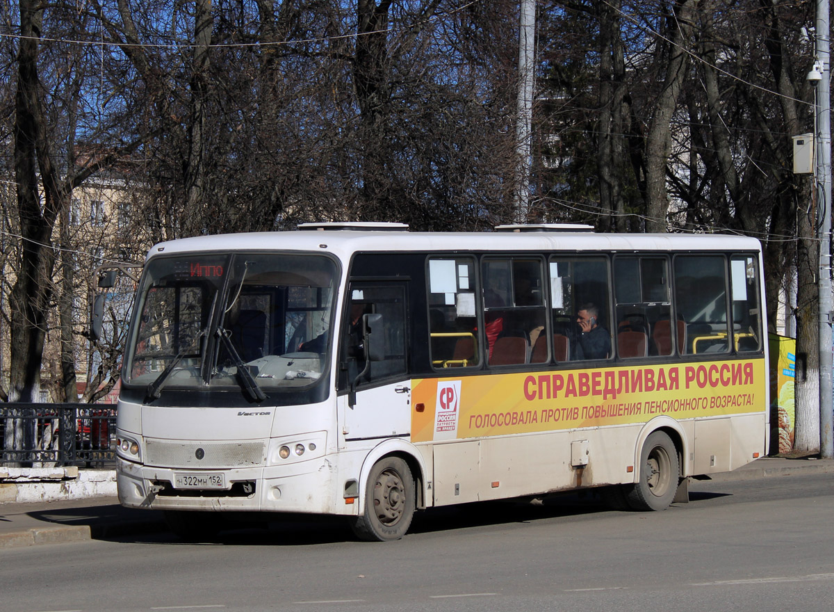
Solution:
[{"label": "tall grey pole at the right edge with a camera mounted", "polygon": [[[821,73],[816,84],[816,210],[820,242],[820,454],[834,458],[831,441],[831,53],[830,0],[816,0],[816,63]],[[812,73],[814,70],[811,71]],[[809,75],[810,77],[810,75]]]}]

